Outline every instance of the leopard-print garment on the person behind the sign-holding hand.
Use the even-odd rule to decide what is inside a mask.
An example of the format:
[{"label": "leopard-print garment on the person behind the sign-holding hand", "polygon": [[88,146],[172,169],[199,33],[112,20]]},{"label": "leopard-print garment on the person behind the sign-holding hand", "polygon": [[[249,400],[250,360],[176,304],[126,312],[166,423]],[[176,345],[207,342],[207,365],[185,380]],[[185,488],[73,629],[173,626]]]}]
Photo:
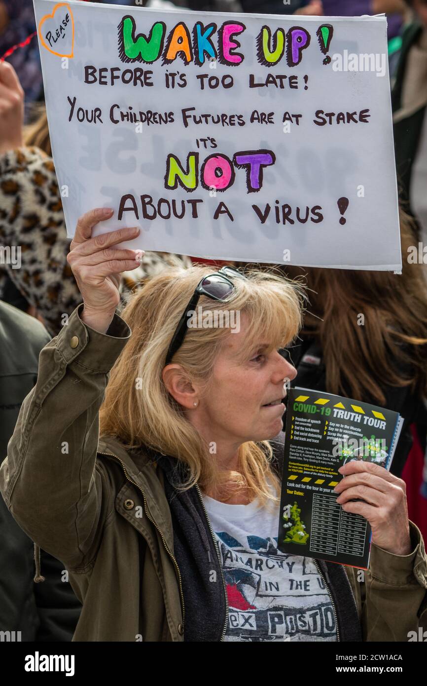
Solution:
[{"label": "leopard-print garment on the person behind the sign-holding hand", "polygon": [[[52,159],[37,147],[20,147],[1,155],[0,246],[21,246],[21,268],[0,264],[0,300],[7,272],[27,302],[36,307],[51,335],[60,331],[63,315],[70,315],[82,302],[66,261],[70,241]],[[135,285],[170,263],[188,267],[191,260],[145,252],[143,265],[123,274],[122,306]]]}]

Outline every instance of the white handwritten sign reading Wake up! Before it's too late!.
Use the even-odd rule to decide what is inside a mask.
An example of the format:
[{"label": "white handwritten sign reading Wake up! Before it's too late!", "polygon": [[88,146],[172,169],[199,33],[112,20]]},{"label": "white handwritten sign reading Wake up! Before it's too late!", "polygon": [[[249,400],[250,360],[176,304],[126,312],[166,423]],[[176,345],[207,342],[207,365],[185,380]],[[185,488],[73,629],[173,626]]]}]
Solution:
[{"label": "white handwritten sign reading Wake up! Before it's too late!", "polygon": [[134,248],[400,270],[385,17],[34,0],[69,235]]}]

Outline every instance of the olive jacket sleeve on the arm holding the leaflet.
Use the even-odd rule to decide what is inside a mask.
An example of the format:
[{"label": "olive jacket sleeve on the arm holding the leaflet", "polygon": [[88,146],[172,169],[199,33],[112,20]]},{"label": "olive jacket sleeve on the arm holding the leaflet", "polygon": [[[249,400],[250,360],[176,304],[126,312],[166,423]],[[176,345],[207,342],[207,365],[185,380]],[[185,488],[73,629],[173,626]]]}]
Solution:
[{"label": "olive jacket sleeve on the arm holding the leaflet", "polygon": [[413,547],[409,555],[393,555],[374,543],[371,546],[365,582],[357,584],[364,641],[406,642],[411,632],[427,628],[426,551],[417,526],[410,521],[409,528]]}]

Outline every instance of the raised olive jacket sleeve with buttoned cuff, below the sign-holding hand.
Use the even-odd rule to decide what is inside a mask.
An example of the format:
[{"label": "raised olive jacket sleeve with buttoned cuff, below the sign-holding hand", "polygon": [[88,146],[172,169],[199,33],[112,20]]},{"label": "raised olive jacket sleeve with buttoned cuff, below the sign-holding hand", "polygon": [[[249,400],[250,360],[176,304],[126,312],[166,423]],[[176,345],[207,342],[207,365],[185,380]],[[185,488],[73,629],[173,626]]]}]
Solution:
[{"label": "raised olive jacket sleeve with buttoned cuff, below the sign-holding hand", "polygon": [[114,508],[108,472],[96,460],[98,412],[108,372],[130,337],[117,315],[108,335],[86,327],[82,307],[42,349],[36,386],[0,467],[14,519],[40,548],[80,572],[93,563]]}]

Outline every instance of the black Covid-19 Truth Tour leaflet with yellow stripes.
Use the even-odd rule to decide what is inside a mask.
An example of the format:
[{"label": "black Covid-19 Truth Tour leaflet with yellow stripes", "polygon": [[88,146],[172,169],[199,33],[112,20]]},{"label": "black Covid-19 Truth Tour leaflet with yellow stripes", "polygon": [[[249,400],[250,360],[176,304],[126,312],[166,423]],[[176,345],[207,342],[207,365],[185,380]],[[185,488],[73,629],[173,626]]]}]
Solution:
[{"label": "black Covid-19 Truth Tour leaflet with yellow stripes", "polygon": [[389,470],[403,419],[339,395],[291,388],[278,547],[282,552],[369,569],[371,527],[345,512],[334,493],[338,469],[353,460]]}]

